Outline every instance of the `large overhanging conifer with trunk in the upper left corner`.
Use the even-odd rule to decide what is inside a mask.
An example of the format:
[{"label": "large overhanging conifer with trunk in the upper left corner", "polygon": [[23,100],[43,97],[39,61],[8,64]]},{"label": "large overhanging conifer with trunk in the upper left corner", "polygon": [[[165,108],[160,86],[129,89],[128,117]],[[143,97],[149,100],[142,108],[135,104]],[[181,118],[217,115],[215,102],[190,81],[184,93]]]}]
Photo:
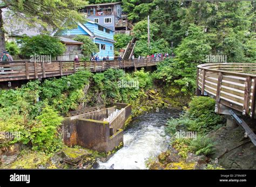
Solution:
[{"label": "large overhanging conifer with trunk in the upper left corner", "polygon": [[34,0],[0,2],[0,51],[5,50],[5,37],[2,9],[7,8],[9,19],[22,20],[29,27],[42,26],[42,31],[71,29],[77,26],[77,21],[84,22],[85,17],[77,10],[87,5],[84,0]]}]

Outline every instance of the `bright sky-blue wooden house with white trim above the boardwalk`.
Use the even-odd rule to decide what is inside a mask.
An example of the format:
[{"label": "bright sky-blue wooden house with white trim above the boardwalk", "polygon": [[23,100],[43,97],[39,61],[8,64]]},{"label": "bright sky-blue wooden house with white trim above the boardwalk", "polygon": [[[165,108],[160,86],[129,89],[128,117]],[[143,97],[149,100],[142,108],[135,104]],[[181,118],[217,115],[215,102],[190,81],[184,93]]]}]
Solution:
[{"label": "bright sky-blue wooden house with white trim above the boardwalk", "polygon": [[111,28],[89,20],[85,24],[78,23],[77,28],[64,32],[62,37],[72,39],[77,35],[87,35],[98,46],[99,52],[92,55],[98,55],[100,60],[107,55],[110,60],[114,59],[114,30]]}]

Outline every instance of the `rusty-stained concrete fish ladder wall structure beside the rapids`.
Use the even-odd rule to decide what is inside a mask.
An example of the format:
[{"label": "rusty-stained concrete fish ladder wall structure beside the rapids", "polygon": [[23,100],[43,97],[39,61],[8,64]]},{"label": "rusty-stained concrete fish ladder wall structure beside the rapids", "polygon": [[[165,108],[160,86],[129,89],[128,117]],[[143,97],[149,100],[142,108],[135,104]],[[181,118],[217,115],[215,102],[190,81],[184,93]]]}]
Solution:
[{"label": "rusty-stained concrete fish ladder wall structure beside the rapids", "polygon": [[[70,147],[79,145],[98,152],[109,152],[123,143],[122,128],[131,115],[131,105],[122,103],[113,105],[106,109],[65,118],[62,131],[65,145]],[[117,108],[122,108],[118,116],[110,123],[103,121]]]}]

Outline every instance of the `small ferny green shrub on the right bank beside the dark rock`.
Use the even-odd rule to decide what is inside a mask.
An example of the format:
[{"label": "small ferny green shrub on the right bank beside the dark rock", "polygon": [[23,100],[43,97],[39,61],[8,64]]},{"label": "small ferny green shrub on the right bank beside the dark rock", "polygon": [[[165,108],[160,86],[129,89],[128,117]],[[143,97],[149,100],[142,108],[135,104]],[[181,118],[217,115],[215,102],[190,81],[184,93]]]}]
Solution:
[{"label": "small ferny green shrub on the right bank beside the dark rock", "polygon": [[206,136],[198,135],[196,139],[190,142],[190,148],[196,155],[210,155],[214,153],[214,143]]}]

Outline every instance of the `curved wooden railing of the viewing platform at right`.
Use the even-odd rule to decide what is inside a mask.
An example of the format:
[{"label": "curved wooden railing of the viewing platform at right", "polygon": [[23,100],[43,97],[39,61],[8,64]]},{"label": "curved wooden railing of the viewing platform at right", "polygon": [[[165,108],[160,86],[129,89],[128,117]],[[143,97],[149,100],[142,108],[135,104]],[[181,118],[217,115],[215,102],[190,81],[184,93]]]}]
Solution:
[{"label": "curved wooden railing of the viewing platform at right", "polygon": [[256,63],[200,64],[197,71],[197,95],[216,99],[215,111],[220,105],[249,115],[255,114]]}]

